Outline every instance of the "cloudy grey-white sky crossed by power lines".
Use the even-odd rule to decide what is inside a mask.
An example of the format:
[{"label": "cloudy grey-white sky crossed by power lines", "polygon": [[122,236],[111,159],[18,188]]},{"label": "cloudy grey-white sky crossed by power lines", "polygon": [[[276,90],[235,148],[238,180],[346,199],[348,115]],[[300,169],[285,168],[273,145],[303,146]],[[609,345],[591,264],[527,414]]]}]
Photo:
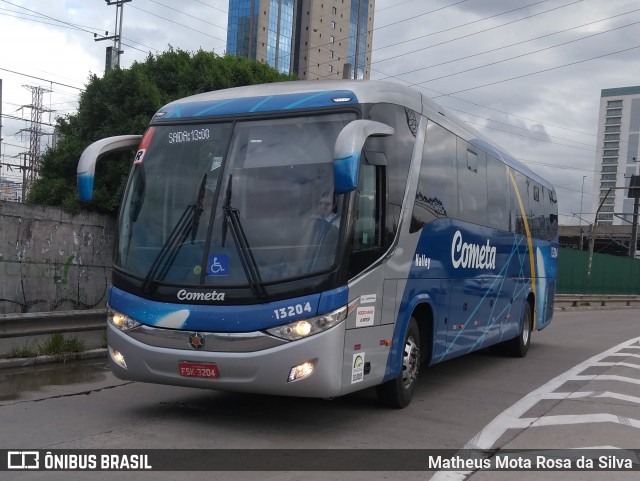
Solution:
[{"label": "cloudy grey-white sky crossed by power lines", "polygon": [[[227,0],[126,3],[122,66],[169,45],[223,54],[227,10]],[[115,19],[104,0],[0,0],[2,162],[28,147],[18,133],[28,125],[11,118],[31,115],[25,86],[51,91],[43,122],[74,112],[111,44],[94,33],[113,34]],[[592,221],[600,91],[640,85],[640,2],[377,0],[371,78],[416,86],[553,182],[562,224],[580,212]]]}]

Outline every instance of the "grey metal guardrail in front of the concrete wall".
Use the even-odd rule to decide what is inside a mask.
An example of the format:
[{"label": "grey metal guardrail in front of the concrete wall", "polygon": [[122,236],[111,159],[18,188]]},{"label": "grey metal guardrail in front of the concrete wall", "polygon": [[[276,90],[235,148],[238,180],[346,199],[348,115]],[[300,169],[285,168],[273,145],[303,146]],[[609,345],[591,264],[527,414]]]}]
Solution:
[{"label": "grey metal guardrail in front of the concrete wall", "polygon": [[106,309],[0,315],[0,339],[40,334],[98,331],[106,327]]}]

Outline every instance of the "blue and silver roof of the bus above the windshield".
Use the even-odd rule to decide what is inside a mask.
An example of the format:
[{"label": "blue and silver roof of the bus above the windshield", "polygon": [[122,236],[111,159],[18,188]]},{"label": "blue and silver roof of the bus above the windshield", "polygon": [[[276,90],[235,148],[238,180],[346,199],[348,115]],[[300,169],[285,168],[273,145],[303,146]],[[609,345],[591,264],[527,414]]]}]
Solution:
[{"label": "blue and silver roof of the bus above the windshield", "polygon": [[457,116],[416,89],[380,80],[305,80],[248,85],[185,97],[162,107],[154,120],[225,116],[258,112],[336,107],[366,103],[392,103],[441,123],[464,140],[532,180],[553,186]]}]

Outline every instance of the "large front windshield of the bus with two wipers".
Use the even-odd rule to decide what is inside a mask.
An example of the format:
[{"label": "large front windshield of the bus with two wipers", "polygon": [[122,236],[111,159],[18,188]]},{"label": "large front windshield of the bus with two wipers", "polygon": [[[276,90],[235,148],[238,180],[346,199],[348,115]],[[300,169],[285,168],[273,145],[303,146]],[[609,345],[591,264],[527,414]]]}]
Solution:
[{"label": "large front windshield of the bus with two wipers", "polygon": [[154,284],[251,287],[330,270],[344,195],[333,146],[354,113],[156,125],[136,155],[115,266]]}]

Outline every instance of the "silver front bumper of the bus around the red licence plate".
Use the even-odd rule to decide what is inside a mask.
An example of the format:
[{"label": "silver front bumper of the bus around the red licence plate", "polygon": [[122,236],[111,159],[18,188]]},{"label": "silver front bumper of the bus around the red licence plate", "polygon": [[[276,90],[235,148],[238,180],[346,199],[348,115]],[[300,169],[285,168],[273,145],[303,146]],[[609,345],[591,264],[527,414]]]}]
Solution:
[{"label": "silver front bumper of the bus around the red licence plate", "polygon": [[[345,323],[306,339],[250,352],[210,352],[151,345],[107,325],[109,364],[120,379],[259,394],[334,397],[340,394]],[[174,331],[175,332],[175,331]],[[189,333],[185,332],[185,337]],[[181,374],[181,363],[215,364],[217,377]],[[289,381],[292,368],[312,363],[313,372]],[[184,366],[184,364],[182,364]]]}]

